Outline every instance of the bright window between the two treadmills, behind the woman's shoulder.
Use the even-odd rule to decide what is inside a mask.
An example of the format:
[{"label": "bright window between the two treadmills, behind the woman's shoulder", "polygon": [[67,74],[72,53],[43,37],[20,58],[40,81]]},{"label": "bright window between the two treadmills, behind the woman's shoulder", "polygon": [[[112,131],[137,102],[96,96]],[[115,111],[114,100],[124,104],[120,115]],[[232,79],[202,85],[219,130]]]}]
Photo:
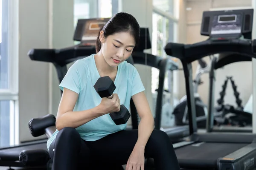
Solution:
[{"label": "bright window between the two treadmills, behind the woman's shoulder", "polygon": [[[162,58],[170,57],[167,56],[164,51],[164,47],[168,42],[177,42],[177,22],[178,16],[175,11],[174,0],[153,0],[153,28],[152,28],[152,54],[157,55]],[[163,108],[168,108],[169,113],[172,112],[172,97],[173,89],[175,90],[175,83],[177,79],[175,77],[175,72],[167,71],[164,83],[164,90],[169,91],[163,94]],[[151,91],[156,103],[157,92],[159,80],[159,70],[156,68],[151,69]],[[175,82],[175,83],[174,83]],[[177,85],[176,85],[177,86]],[[176,92],[177,93],[177,92]],[[154,108],[155,110],[155,108]],[[164,111],[163,111],[164,112]],[[167,117],[162,113],[161,125],[164,127],[170,127],[173,125],[172,115],[169,114]]]}]

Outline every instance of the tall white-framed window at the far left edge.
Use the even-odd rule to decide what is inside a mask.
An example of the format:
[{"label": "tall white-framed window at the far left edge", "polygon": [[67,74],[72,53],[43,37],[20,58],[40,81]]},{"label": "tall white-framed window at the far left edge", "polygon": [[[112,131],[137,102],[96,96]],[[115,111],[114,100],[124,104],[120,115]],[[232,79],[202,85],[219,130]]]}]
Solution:
[{"label": "tall white-framed window at the far left edge", "polygon": [[0,147],[18,144],[18,3],[0,0]]}]

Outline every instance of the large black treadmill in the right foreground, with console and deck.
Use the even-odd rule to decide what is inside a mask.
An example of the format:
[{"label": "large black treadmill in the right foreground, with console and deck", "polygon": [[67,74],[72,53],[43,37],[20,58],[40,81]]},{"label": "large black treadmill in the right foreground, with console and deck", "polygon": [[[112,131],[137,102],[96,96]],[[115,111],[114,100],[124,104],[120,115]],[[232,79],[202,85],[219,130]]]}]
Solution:
[{"label": "large black treadmill in the right foreground, with console and deck", "polygon": [[[197,59],[227,52],[255,58],[253,41],[250,39],[252,24],[253,9],[204,11],[201,35],[209,36],[208,40],[186,45],[169,42],[165,46],[166,54],[177,57],[182,62],[186,82],[190,136],[186,141],[174,144],[181,168],[252,170],[256,167],[255,134],[197,132],[192,84],[192,62]],[[212,104],[208,109],[214,109]],[[208,114],[207,124],[212,125],[212,116]]]}]

